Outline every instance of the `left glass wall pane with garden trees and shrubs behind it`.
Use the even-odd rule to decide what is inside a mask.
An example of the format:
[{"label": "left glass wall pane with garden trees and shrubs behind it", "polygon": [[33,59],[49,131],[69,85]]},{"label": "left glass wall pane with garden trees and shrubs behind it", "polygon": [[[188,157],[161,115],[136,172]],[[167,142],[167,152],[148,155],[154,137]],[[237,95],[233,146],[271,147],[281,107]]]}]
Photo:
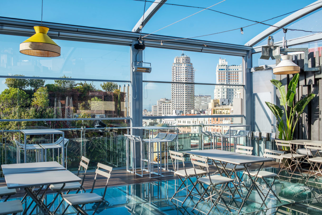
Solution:
[{"label": "left glass wall pane with garden trees and shrubs behind it", "polygon": [[[1,119],[129,117],[130,85],[127,83],[17,78],[0,80],[4,83],[0,87]],[[94,127],[91,121],[62,122],[0,122],[0,129]]]}]

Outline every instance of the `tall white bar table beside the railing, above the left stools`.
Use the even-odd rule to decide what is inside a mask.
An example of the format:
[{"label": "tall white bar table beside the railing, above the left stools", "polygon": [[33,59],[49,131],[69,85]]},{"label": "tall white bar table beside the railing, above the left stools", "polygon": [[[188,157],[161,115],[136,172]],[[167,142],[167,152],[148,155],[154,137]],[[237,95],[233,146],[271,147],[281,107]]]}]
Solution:
[{"label": "tall white bar table beside the railing, above the left stools", "polygon": [[[24,129],[20,130],[24,134],[24,162],[27,162],[27,151],[26,151],[26,143],[27,143],[27,135],[43,135],[43,134],[62,134],[62,145],[65,146],[65,132],[58,131],[56,129]],[[65,166],[65,155],[64,150],[62,149],[62,166]],[[43,158],[41,158],[43,161]]]}]

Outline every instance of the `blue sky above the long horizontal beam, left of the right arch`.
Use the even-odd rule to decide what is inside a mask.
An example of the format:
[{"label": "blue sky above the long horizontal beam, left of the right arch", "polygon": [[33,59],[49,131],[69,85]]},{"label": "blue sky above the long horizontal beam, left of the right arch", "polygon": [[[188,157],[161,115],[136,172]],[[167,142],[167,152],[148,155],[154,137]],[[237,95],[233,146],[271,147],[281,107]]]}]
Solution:
[{"label": "blue sky above the long horizontal beam, left of the right arch", "polygon": [[[153,1],[153,0],[152,0]],[[155,32],[167,25],[201,11],[203,8],[210,7],[218,1],[175,1],[168,0],[156,14],[149,20],[142,29],[144,33]],[[250,0],[246,4],[244,1],[226,0],[210,7],[212,10],[204,10],[200,13],[190,16],[178,23],[168,26],[154,34],[177,36],[177,37],[195,37],[194,39],[209,40],[230,44],[245,44],[251,38],[267,28],[267,25],[254,24],[254,22],[243,20],[241,18],[225,15],[235,15],[251,20],[264,21],[273,17],[298,10],[313,3],[314,0],[290,1],[271,0],[266,1]],[[41,0],[30,1],[25,4],[23,0],[3,1],[1,7],[1,16],[20,19],[41,20]],[[116,30],[131,31],[138,20],[143,15],[145,1],[143,0],[119,0],[119,1],[76,1],[76,0],[43,0],[43,21],[62,24],[82,25],[89,27],[100,27]],[[146,10],[152,2],[146,2]],[[199,8],[196,8],[199,7]],[[219,13],[219,12],[223,13]],[[275,24],[281,16],[270,21],[267,24]],[[251,25],[251,26],[248,26]],[[248,26],[248,27],[245,27]],[[240,33],[243,27],[244,34]],[[315,29],[315,26],[313,27]],[[229,31],[236,29],[234,31]],[[225,33],[214,34],[228,31]],[[196,37],[205,34],[213,34],[203,37]]]}]

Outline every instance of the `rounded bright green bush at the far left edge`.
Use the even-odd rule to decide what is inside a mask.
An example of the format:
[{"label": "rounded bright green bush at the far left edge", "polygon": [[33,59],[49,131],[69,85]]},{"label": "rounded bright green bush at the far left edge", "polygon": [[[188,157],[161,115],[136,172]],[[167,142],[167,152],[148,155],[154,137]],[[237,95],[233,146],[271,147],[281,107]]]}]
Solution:
[{"label": "rounded bright green bush at the far left edge", "polygon": [[28,106],[30,103],[29,95],[18,88],[5,89],[0,94],[0,109],[2,113],[10,111],[13,107]]}]

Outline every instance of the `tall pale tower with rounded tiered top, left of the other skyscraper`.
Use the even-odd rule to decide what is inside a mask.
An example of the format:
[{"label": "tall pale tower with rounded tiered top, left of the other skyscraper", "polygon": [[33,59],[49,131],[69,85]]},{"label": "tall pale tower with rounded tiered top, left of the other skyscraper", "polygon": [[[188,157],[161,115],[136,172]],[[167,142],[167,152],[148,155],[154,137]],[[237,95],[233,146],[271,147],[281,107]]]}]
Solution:
[{"label": "tall pale tower with rounded tiered top, left of the other skyscraper", "polygon": [[184,84],[171,84],[171,107],[172,110],[180,110],[190,113],[194,109],[194,67],[190,57],[181,54],[176,56],[172,64],[172,82],[185,82]]}]

